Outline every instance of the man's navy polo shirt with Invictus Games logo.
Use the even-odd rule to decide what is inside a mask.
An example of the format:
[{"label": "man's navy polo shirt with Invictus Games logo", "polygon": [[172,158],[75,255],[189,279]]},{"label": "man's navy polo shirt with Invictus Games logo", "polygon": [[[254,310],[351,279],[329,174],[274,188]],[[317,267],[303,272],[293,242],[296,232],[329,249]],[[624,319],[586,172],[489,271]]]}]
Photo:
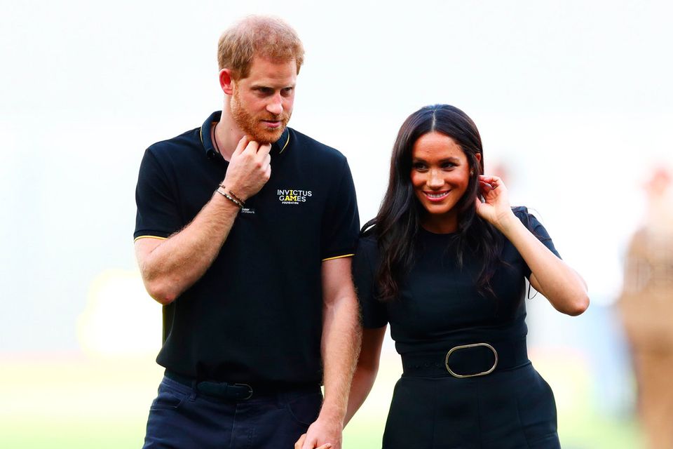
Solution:
[{"label": "man's navy polo shirt with Invictus Games logo", "polygon": [[[167,238],[210,201],[228,166],[210,139],[220,114],[146,150],[136,239]],[[358,228],[346,157],[287,128],[211,267],[163,307],[157,362],[199,380],[320,382],[320,267],[353,255]]]}]

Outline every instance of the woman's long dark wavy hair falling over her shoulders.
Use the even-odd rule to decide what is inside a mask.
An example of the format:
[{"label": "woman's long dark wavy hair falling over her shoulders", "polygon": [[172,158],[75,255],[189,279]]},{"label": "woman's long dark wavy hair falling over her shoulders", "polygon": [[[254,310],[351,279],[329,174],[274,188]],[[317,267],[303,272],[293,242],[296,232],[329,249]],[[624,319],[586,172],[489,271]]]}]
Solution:
[{"label": "woman's long dark wavy hair falling over her shoulders", "polygon": [[[390,180],[379,213],[362,228],[374,233],[381,253],[376,284],[381,300],[397,297],[398,280],[409,271],[414,260],[414,243],[425,212],[416,199],[412,186],[412,150],[416,140],[427,133],[442,133],[453,139],[467,156],[471,175],[468,188],[454,206],[458,212],[456,258],[463,264],[465,251],[475,253],[483,265],[477,288],[491,293],[491,277],[495,271],[503,239],[494,227],[477,216],[475,198],[479,192],[479,175],[484,173],[482,138],[477,126],[460,109],[449,105],[426,106],[410,115],[397,133],[390,157]],[[481,159],[477,159],[481,154]],[[376,225],[372,228],[373,225]],[[372,228],[372,229],[369,229]]]}]

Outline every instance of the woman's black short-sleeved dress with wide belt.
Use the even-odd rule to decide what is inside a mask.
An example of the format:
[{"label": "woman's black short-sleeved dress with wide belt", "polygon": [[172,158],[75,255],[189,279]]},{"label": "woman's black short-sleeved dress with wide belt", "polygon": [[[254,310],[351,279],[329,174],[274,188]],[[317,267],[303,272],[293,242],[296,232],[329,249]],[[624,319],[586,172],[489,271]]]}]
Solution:
[{"label": "woman's black short-sleeved dress with wide belt", "polygon": [[[558,255],[538,220],[526,208],[513,210]],[[475,286],[480,261],[465,254],[458,267],[454,234],[421,229],[417,239],[414,265],[390,302],[376,299],[373,237],[360,239],[353,260],[364,326],[390,323],[404,367],[383,449],[560,448],[554,396],[526,354],[526,262],[505,239],[491,279],[495,297],[484,296]],[[461,348],[466,344],[480,345]],[[487,375],[454,377],[494,366]]]}]

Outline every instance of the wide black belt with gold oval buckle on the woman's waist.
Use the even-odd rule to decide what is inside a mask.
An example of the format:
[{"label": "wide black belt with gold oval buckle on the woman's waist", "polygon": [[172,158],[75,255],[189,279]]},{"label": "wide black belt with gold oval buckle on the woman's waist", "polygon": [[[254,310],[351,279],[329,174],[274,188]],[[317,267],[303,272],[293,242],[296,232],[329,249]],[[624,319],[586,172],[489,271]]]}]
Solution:
[{"label": "wide black belt with gold oval buckle on the woman's waist", "polygon": [[446,351],[402,355],[403,376],[476,377],[526,363],[526,339],[447,344]]}]

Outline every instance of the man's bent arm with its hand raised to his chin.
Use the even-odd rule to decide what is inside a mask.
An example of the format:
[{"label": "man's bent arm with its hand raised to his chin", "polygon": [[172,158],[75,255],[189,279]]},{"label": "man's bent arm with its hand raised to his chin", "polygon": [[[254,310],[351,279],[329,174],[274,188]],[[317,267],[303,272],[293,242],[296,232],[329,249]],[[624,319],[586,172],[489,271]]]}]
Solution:
[{"label": "man's bent arm with its hand raised to his chin", "polygon": [[[270,149],[241,139],[226,170],[226,188],[243,201],[259,192],[271,176]],[[236,215],[236,203],[215,192],[189,225],[168,239],[138,239],[135,255],[149,295],[170,304],[198,281],[217,257]]]}]

